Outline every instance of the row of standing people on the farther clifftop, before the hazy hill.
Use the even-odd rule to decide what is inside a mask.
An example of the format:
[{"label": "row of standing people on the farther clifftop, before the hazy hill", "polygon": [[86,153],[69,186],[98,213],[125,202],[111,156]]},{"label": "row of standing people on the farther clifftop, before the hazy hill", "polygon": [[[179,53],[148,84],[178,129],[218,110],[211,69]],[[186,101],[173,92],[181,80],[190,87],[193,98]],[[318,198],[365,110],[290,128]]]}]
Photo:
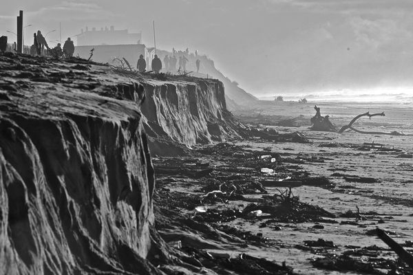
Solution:
[{"label": "row of standing people on the farther clifftop, before the hazy hill", "polygon": [[[165,55],[165,57],[163,58],[163,69],[165,69],[165,72],[176,71],[177,61],[179,65],[178,71],[185,72],[187,70],[187,63],[189,62],[189,59],[186,56],[179,56],[177,60],[176,56],[174,55]],[[197,72],[200,71],[200,63],[201,61],[199,59],[195,61]],[[136,65],[136,67],[138,68],[139,72],[146,72],[147,63],[145,61],[145,58],[143,58],[142,54],[139,56],[138,64]],[[153,57],[151,67],[153,72],[156,72],[157,74],[159,74],[160,70],[162,69],[162,61],[160,61],[160,58],[157,54],[155,54],[155,56]]]}]

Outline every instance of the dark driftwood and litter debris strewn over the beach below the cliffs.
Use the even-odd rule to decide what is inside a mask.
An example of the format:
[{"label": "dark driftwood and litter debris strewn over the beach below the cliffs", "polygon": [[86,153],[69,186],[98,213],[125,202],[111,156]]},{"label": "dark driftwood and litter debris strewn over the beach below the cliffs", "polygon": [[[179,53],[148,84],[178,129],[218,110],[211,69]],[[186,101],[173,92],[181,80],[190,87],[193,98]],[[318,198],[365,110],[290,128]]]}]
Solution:
[{"label": "dark driftwood and litter debris strewn over the beach below the cliffs", "polygon": [[[400,153],[396,151],[397,148],[374,142],[360,144],[358,147],[355,144],[339,144],[339,146],[356,152],[358,148],[364,146],[377,154]],[[328,162],[328,160],[325,155],[321,154],[277,153],[271,147],[264,146],[264,148],[257,149],[231,142],[202,146],[196,148],[191,157],[156,160],[155,167],[160,172],[162,172],[162,166],[166,168],[177,166],[178,169],[176,175],[167,173],[167,170],[160,174],[158,186],[161,187],[158,187],[160,191],[157,192],[162,193],[164,182],[173,184],[173,181],[182,181],[182,184],[192,186],[191,190],[193,190],[187,194],[164,192],[162,193],[164,199],[158,204],[165,208],[171,207],[174,211],[187,210],[185,219],[177,220],[184,223],[184,226],[191,225],[188,229],[192,232],[191,234],[200,234],[206,239],[217,241],[234,241],[236,239],[237,245],[232,244],[233,248],[231,248],[231,251],[234,251],[233,254],[228,253],[227,250],[222,250],[222,252],[213,250],[213,253],[210,253],[213,259],[222,259],[222,261],[236,259],[239,255],[236,252],[237,247],[246,248],[250,245],[258,248],[288,247],[288,243],[269,239],[262,232],[244,230],[244,225],[255,225],[262,230],[273,232],[285,232],[288,228],[299,231],[301,223],[306,230],[319,233],[329,230],[330,225],[346,228],[354,226],[354,228],[366,228],[365,230],[361,229],[361,234],[364,236],[373,236],[375,230],[371,228],[371,225],[389,223],[394,220],[393,216],[396,216],[397,213],[361,212],[359,207],[355,206],[357,210],[343,211],[340,214],[330,212],[317,204],[303,202],[298,196],[293,195],[294,188],[299,186],[326,188],[338,193],[346,192],[346,184],[337,184],[336,180],[330,179],[331,177],[341,178],[339,180],[342,183],[348,181],[352,184],[369,183],[370,185],[381,181],[379,177],[357,175],[356,169],[352,166],[328,168],[327,170],[335,172],[330,178],[310,175],[300,167],[302,164],[317,166]],[[196,177],[195,171],[207,168],[212,169],[210,173]],[[354,192],[358,190],[355,185],[349,185],[348,188],[354,189]],[[175,196],[177,199],[182,198],[182,202],[175,201],[173,199]],[[363,196],[386,199],[386,197],[374,193],[363,193]],[[167,197],[170,199],[166,199]],[[335,199],[339,200],[340,198]],[[388,197],[388,200],[395,203],[409,203],[396,197]],[[310,225],[306,223],[310,223]],[[166,226],[166,228],[169,226],[171,225]],[[163,225],[160,225],[160,228],[162,234]],[[199,243],[198,241],[193,242]],[[225,243],[225,241],[222,242]],[[209,250],[203,248],[202,243],[199,243],[196,248],[191,248],[188,243],[191,241],[182,242],[180,250],[189,253],[187,255],[194,263],[199,262],[205,268],[212,267],[211,270],[215,272],[221,268],[227,272],[231,270],[232,265],[225,267],[220,264],[208,265],[202,256],[195,255],[196,253],[209,253]],[[409,245],[409,243],[405,244]],[[208,244],[205,245],[208,246]],[[320,238],[308,240],[304,244],[296,244],[292,247],[317,255],[318,258],[313,259],[310,263],[314,268],[322,270],[364,272],[366,274],[409,274],[411,270],[407,264],[398,263],[393,259],[392,255],[394,254],[390,254],[392,253],[390,250],[374,245],[365,248],[354,245],[341,247],[335,239]],[[193,250],[198,250],[198,252],[191,254]]]}]

